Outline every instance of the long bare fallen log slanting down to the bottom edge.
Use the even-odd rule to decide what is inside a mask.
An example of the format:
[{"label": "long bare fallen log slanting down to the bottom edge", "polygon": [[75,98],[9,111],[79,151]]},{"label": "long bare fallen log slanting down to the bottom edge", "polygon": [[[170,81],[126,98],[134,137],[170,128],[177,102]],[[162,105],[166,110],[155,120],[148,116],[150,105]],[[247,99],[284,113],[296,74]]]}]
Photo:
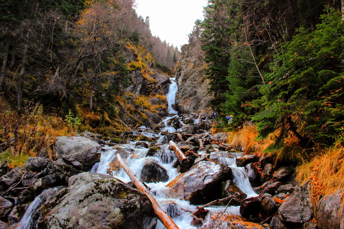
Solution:
[{"label": "long bare fallen log slanting down to the bottom edge", "polygon": [[167,229],[179,229],[178,226],[173,222],[170,216],[168,216],[164,210],[159,206],[158,202],[155,200],[153,195],[149,192],[149,190],[143,185],[143,183],[137,178],[135,173],[129,168],[129,166],[123,161],[122,157],[117,154],[116,158],[120,164],[120,166],[126,171],[128,174],[130,180],[134,183],[134,185],[140,190],[141,192],[144,193],[149,199],[149,201],[152,203],[154,213],[157,215],[157,217],[160,219],[162,224],[167,228]]}]

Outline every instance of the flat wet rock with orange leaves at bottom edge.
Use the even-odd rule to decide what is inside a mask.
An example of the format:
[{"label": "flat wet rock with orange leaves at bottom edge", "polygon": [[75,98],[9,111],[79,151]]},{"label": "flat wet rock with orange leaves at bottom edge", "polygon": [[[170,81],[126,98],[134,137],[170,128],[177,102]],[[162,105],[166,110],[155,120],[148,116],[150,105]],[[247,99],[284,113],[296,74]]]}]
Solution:
[{"label": "flat wet rock with orange leaves at bottom edge", "polygon": [[214,228],[232,228],[232,229],[268,229],[262,225],[254,222],[249,222],[247,219],[237,216],[229,215],[223,212],[211,212],[205,219],[202,229],[214,229]]}]

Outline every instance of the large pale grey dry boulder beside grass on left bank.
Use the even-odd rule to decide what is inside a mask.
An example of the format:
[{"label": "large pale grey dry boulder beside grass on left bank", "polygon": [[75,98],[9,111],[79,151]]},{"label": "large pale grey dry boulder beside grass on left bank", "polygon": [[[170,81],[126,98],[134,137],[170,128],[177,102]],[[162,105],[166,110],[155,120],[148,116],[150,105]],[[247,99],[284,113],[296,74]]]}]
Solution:
[{"label": "large pale grey dry boulder beside grass on left bank", "polygon": [[85,137],[56,138],[55,153],[57,158],[64,155],[74,158],[83,166],[93,165],[100,160],[100,145]]}]

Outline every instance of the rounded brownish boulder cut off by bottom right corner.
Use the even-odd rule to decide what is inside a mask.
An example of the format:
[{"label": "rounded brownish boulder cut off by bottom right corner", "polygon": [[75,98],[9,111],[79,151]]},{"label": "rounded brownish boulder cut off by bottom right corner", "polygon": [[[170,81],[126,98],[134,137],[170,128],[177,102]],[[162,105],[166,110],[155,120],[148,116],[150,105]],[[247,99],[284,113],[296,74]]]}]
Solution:
[{"label": "rounded brownish boulder cut off by bottom right corner", "polygon": [[331,195],[320,199],[316,207],[316,221],[319,229],[343,228],[344,211],[341,211],[342,191],[337,191]]}]

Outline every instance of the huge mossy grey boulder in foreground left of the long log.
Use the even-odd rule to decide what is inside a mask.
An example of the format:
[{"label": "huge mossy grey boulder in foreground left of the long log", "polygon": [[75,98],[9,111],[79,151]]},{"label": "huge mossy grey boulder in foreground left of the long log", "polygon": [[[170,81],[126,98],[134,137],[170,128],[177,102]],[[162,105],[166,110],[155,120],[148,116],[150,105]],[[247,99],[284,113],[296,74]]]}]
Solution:
[{"label": "huge mossy grey boulder in foreground left of the long log", "polygon": [[150,229],[156,222],[143,193],[112,176],[80,173],[69,179],[67,193],[46,212],[39,227]]}]

